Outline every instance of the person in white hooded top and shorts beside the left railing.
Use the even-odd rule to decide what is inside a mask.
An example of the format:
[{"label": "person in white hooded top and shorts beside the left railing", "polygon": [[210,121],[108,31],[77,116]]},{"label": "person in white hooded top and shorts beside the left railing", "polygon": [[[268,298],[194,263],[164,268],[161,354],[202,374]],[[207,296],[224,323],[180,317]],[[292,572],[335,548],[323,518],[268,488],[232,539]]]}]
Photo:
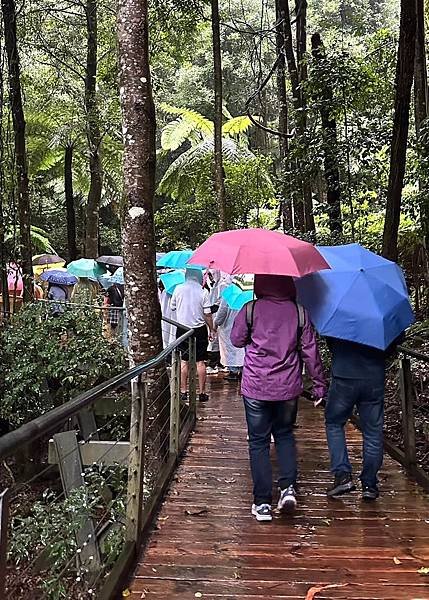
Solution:
[{"label": "person in white hooded top and shorts beside the left railing", "polygon": [[[206,364],[208,330],[213,334],[213,317],[211,312],[210,298],[206,290],[203,289],[203,274],[201,269],[187,267],[185,271],[185,283],[178,285],[173,292],[170,302],[170,308],[175,315],[174,320],[185,327],[195,330],[196,338],[196,359],[198,382],[200,388],[200,402],[207,402],[209,399],[206,394]],[[185,329],[177,328],[176,336],[179,338]],[[189,352],[188,342],[182,347],[182,400],[187,400],[187,383],[189,375]]]}]

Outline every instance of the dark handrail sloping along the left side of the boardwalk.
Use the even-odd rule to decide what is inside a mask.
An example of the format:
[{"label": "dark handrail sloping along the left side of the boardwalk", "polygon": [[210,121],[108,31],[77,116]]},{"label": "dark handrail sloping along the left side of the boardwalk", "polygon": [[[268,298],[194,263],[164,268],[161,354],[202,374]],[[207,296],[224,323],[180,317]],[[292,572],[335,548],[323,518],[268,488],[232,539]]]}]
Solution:
[{"label": "dark handrail sloping along the left side of the boardwalk", "polygon": [[96,400],[115,390],[116,388],[125,385],[133,379],[141,376],[143,373],[160,366],[165,359],[178,348],[184,341],[188,340],[194,335],[194,330],[165,319],[168,323],[180,327],[181,329],[187,330],[182,336],[172,342],[167,348],[165,348],[158,356],[148,360],[147,362],[137,365],[132,369],[112,377],[108,381],[97,385],[96,387],[79,394],[75,398],[72,398],[65,404],[53,408],[49,412],[36,417],[29,423],[25,423],[18,429],[7,433],[0,438],[0,459],[3,460],[13,454],[20,446],[28,444],[31,441],[35,441],[48,434],[56,427],[63,424],[70,417],[78,414],[81,410],[93,404]]}]

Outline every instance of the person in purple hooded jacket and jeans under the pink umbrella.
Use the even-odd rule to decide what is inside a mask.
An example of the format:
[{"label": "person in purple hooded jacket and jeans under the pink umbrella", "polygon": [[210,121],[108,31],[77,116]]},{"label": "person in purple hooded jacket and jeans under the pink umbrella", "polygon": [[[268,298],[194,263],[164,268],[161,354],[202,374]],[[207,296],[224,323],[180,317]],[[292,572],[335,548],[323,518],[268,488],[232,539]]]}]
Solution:
[{"label": "person in purple hooded jacket and jeans under the pink umbrella", "polygon": [[252,514],[258,521],[271,521],[271,435],[280,471],[278,508],[289,512],[296,507],[293,428],[304,387],[302,362],[313,380],[316,399],[325,396],[326,382],[313,326],[296,304],[293,279],[256,275],[255,295],[257,300],[237,315],[231,341],[237,348],[246,348],[241,392],[254,485]]}]

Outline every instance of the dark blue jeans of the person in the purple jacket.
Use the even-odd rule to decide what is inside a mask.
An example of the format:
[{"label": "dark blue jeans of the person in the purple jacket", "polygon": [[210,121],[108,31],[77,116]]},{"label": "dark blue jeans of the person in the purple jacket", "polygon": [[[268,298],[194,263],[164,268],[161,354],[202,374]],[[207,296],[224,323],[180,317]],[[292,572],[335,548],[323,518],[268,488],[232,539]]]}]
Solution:
[{"label": "dark blue jeans of the person in the purple jacket", "polygon": [[298,403],[297,400],[270,402],[246,397],[243,399],[249,432],[254,503],[271,504],[273,499],[271,434],[274,437],[279,464],[279,487],[285,489],[296,482],[297,464],[293,426]]}]

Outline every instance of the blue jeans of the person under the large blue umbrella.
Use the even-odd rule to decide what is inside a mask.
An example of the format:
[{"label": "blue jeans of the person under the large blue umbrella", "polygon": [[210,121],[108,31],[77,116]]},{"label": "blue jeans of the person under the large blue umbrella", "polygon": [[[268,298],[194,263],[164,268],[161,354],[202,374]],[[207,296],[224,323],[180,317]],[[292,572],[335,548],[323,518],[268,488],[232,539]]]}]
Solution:
[{"label": "blue jeans of the person under the large blue umbrella", "polygon": [[334,474],[351,473],[344,427],[357,407],[363,436],[363,485],[377,486],[383,464],[384,381],[332,377],[325,410],[326,436]]}]

